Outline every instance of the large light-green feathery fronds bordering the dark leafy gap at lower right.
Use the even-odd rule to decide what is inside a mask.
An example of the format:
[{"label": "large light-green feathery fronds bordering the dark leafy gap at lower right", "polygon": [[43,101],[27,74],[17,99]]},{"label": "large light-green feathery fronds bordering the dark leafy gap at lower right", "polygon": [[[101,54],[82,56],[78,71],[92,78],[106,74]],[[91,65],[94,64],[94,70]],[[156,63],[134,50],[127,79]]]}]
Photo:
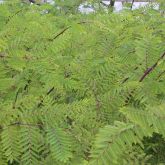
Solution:
[{"label": "large light-green feathery fronds bordering the dark leafy gap at lower right", "polygon": [[[152,134],[162,134],[164,137],[165,105],[148,110],[133,108],[122,109],[129,122],[115,122],[114,126],[105,126],[97,135],[95,147],[92,151],[93,164],[119,164],[127,157],[121,157],[122,153],[134,145],[144,148],[142,140],[151,137]],[[119,158],[122,158],[120,160]],[[137,164],[134,162],[134,164]],[[139,164],[139,162],[138,162]]]}]

